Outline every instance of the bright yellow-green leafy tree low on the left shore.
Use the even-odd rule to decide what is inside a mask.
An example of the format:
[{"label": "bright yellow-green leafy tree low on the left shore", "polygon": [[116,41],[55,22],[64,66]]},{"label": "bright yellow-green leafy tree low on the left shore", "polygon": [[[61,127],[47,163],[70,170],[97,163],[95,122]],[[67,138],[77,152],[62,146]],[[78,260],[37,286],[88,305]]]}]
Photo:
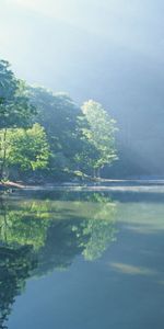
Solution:
[{"label": "bright yellow-green leafy tree low on the left shore", "polygon": [[[44,127],[34,124],[32,128],[8,129],[5,140],[0,134],[1,152],[5,148],[5,166],[15,167],[20,171],[45,169],[49,160],[49,146]],[[3,146],[5,144],[5,146]]]}]

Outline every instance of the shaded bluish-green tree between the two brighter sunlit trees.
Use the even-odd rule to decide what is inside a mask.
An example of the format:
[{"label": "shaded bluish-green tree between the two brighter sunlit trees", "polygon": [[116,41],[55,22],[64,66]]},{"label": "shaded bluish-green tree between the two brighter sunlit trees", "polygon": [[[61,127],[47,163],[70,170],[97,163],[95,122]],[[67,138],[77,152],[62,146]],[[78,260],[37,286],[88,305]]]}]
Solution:
[{"label": "shaded bluish-green tree between the two brighter sunlit trees", "polygon": [[28,88],[31,102],[37,106],[35,121],[47,133],[51,150],[51,169],[67,172],[75,169],[80,139],[78,138],[78,117],[81,109],[66,93],[52,93],[45,88]]}]

